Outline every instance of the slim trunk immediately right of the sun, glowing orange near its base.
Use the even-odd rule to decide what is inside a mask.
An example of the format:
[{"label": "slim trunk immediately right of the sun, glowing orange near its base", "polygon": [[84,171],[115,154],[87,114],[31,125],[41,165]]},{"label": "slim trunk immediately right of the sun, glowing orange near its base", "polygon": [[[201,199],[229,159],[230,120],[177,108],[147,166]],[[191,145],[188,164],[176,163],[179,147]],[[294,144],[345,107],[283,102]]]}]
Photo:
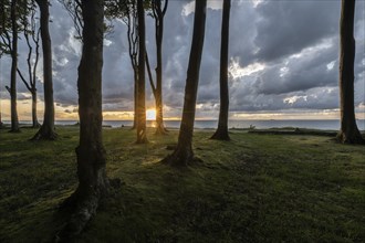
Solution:
[{"label": "slim trunk immediately right of the sun, glowing orange near its base", "polygon": [[[167,1],[167,0],[166,0]],[[163,39],[164,39],[164,15],[161,11],[161,0],[156,1],[157,14],[155,15],[156,25],[156,134],[165,135],[164,126],[164,105],[163,105]]]}]

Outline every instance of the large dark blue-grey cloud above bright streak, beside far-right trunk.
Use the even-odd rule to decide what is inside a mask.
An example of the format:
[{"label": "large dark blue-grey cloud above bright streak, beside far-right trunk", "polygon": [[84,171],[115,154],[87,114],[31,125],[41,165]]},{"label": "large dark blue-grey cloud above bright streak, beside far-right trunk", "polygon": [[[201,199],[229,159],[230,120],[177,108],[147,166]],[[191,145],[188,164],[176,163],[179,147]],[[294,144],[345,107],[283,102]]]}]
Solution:
[{"label": "large dark blue-grey cloud above bright streak, beside far-right trunk", "polygon": [[337,33],[338,1],[265,1],[257,11],[259,61],[270,62]]}]

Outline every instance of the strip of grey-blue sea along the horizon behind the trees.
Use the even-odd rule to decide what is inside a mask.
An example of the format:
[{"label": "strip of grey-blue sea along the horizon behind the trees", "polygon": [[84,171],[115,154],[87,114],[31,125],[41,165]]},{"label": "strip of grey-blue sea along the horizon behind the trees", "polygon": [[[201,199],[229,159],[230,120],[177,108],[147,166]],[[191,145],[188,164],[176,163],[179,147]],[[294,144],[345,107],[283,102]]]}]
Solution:
[{"label": "strip of grey-blue sea along the horizon behind the trees", "polygon": [[[4,122],[10,124],[9,122]],[[365,130],[365,119],[357,119],[357,127],[361,130]],[[21,122],[21,124],[30,125],[30,120]],[[56,120],[56,125],[74,125],[76,120]],[[112,127],[132,126],[133,120],[104,120],[103,125]],[[217,128],[217,120],[196,120],[195,128]],[[147,126],[154,127],[154,120],[147,120]],[[165,126],[169,128],[179,128],[180,120],[165,120]],[[326,129],[326,130],[338,130],[338,119],[317,119],[317,120],[294,120],[294,119],[278,119],[278,120],[229,120],[229,128],[249,128],[254,126],[258,129],[264,128],[282,128],[282,127],[299,127],[299,128],[312,128],[312,129]]]}]

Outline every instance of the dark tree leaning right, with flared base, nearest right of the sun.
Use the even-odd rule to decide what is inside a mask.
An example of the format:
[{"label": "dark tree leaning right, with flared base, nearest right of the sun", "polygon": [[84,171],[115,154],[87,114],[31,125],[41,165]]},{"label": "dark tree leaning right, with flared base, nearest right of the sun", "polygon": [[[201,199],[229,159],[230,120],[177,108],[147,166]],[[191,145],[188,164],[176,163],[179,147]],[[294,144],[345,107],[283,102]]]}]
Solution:
[{"label": "dark tree leaning right, with flared base, nearest right of the sun", "polygon": [[192,43],[187,71],[182,119],[178,144],[173,155],[169,155],[163,160],[163,162],[173,166],[187,166],[194,160],[191,144],[201,53],[205,39],[207,0],[196,0],[195,4]]}]

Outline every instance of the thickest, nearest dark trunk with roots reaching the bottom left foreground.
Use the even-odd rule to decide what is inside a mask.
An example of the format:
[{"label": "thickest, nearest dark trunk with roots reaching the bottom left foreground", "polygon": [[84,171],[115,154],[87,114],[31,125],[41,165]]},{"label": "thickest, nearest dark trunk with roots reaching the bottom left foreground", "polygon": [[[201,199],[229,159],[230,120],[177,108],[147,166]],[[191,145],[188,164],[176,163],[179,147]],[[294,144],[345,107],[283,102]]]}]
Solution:
[{"label": "thickest, nearest dark trunk with roots reaching the bottom left foreground", "polygon": [[76,148],[79,187],[69,199],[75,211],[61,232],[66,240],[77,235],[96,213],[108,189],[102,140],[102,68],[104,1],[83,0],[83,50],[79,66],[80,145]]}]

